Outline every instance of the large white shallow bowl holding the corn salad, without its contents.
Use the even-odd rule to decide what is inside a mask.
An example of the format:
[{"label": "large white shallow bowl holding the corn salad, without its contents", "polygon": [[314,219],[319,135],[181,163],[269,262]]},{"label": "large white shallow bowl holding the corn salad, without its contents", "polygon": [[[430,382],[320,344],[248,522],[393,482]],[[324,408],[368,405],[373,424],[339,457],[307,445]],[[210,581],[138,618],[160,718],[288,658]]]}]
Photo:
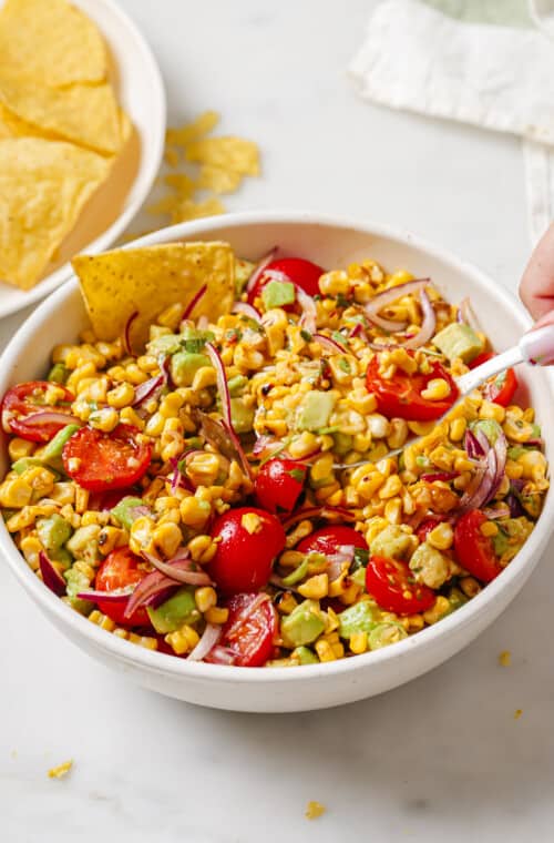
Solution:
[{"label": "large white shallow bowl holding the corn salad, without its contents", "polygon": [[[228,241],[245,257],[258,258],[278,244],[285,252],[322,266],[346,266],[372,257],[390,268],[430,275],[451,301],[470,296],[483,327],[500,351],[529,327],[529,318],[486,275],[411,235],[378,225],[309,213],[249,213],[164,228],[143,245],[178,240]],[[133,244],[134,245],[134,244]],[[0,394],[12,384],[43,377],[53,343],[74,342],[88,324],[76,281],[51,295],[24,323],[0,359]],[[554,376],[522,368],[522,392],[544,424],[546,451],[554,459],[545,424],[554,406]],[[1,449],[6,469],[6,447]],[[27,566],[3,521],[0,551],[32,600],[71,641],[104,664],[160,693],[236,711],[302,711],[353,702],[402,684],[437,667],[470,643],[506,608],[530,576],[554,527],[554,496],[525,546],[502,575],[466,606],[433,627],[376,652],[298,668],[248,669],[188,663],[123,641],[82,618],[54,597]],[[33,611],[33,607],[30,607]]]}]

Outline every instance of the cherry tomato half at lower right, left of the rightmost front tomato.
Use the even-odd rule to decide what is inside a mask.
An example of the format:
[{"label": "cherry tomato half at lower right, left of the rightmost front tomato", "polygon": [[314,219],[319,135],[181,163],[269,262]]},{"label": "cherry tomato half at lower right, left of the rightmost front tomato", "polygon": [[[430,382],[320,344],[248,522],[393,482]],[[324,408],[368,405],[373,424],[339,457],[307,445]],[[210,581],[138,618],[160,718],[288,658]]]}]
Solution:
[{"label": "cherry tomato half at lower right, left of the rightmost front tomato", "polygon": [[406,562],[371,556],[366,568],[366,588],[381,609],[397,615],[414,615],[430,609],[434,591],[416,582]]}]

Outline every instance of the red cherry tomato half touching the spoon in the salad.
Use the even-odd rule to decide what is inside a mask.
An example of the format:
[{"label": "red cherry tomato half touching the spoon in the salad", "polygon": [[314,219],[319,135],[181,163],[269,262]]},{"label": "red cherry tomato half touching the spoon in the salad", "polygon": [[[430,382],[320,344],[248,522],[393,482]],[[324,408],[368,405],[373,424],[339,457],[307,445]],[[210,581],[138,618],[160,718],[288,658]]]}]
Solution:
[{"label": "red cherry tomato half touching the spoon in the salad", "polygon": [[[412,352],[408,352],[413,356]],[[444,366],[430,360],[430,372],[407,375],[397,369],[391,378],[379,374],[379,359],[373,357],[367,373],[367,387],[377,398],[377,408],[387,418],[406,418],[409,422],[431,422],[440,418],[458,398],[458,387]],[[450,395],[442,400],[431,402],[421,396],[430,380],[443,378],[450,386]]]}]

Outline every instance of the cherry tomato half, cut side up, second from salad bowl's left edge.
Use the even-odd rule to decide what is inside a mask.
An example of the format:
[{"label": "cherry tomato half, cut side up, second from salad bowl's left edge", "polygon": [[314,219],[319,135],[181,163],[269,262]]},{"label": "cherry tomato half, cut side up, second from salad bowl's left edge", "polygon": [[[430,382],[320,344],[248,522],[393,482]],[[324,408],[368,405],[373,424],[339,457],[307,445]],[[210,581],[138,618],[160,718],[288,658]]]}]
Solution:
[{"label": "cherry tomato half, cut side up, second from salad bowl's left edge", "polygon": [[63,447],[63,467],[89,491],[132,486],[146,473],[152,457],[151,445],[136,441],[137,433],[131,425],[117,425],[110,434],[82,427]]}]

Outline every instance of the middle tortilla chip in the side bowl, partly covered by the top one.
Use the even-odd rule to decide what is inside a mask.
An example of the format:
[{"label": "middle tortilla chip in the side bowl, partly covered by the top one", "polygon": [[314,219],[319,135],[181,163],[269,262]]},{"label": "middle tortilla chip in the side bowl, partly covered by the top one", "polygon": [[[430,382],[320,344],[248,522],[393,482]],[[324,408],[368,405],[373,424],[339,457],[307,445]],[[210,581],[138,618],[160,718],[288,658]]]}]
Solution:
[{"label": "middle tortilla chip in the side bowl, partly covered by the top one", "polygon": [[122,144],[121,119],[112,88],[75,84],[57,90],[14,75],[0,63],[0,101],[28,123],[66,141],[111,155]]}]

